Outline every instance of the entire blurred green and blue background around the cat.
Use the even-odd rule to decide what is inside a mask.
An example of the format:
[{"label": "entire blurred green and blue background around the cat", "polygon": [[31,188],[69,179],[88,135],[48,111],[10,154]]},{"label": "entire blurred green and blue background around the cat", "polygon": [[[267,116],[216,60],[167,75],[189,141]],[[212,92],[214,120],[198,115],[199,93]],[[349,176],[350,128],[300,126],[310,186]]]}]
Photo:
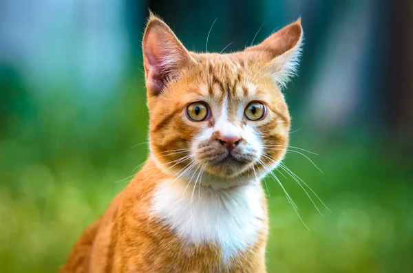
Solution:
[{"label": "entire blurred green and blue background around the cat", "polygon": [[[301,16],[268,272],[413,272],[412,1],[0,1],[0,272],[54,272],[147,157],[148,8],[189,50],[242,50]],[[257,32],[260,27],[261,30]],[[140,144],[137,145],[136,144]]]}]

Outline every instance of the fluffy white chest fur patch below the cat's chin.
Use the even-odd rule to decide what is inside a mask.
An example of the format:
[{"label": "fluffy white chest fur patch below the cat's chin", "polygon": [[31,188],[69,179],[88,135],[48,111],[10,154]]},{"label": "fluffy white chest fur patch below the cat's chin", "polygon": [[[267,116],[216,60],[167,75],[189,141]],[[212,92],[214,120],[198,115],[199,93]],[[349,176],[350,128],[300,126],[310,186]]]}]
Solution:
[{"label": "fluffy white chest fur patch below the cat's chin", "polygon": [[263,228],[260,184],[226,190],[162,182],[153,197],[153,213],[188,243],[213,241],[224,261],[257,241]]}]

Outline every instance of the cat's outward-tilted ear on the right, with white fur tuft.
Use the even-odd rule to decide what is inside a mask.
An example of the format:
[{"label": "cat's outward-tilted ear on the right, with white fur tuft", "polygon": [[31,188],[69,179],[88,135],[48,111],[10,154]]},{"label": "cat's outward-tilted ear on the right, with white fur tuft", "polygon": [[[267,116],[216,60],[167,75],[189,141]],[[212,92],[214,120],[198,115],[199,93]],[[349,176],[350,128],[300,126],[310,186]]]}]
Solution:
[{"label": "cat's outward-tilted ear on the right, with white fur tuft", "polygon": [[267,67],[271,70],[275,82],[285,87],[297,71],[303,34],[301,18],[299,18],[268,36],[262,43],[247,47],[245,51],[249,52],[248,54],[254,52],[257,61],[270,63]]}]

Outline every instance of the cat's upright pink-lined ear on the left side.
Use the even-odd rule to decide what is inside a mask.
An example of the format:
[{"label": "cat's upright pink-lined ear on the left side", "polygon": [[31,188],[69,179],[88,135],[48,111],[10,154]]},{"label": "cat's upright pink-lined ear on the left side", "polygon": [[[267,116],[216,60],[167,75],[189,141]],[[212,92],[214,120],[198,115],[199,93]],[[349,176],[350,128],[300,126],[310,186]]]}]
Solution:
[{"label": "cat's upright pink-lined ear on the left side", "polygon": [[142,41],[148,94],[158,96],[180,70],[195,61],[169,26],[150,15]]}]

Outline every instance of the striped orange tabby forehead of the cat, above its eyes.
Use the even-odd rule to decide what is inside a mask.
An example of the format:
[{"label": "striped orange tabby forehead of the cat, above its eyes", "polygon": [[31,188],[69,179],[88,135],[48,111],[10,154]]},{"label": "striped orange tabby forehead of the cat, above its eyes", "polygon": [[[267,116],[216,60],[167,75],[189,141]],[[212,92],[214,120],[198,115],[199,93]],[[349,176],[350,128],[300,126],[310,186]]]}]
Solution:
[{"label": "striped orange tabby forehead of the cat, above its eyes", "polygon": [[[282,93],[271,83],[269,75],[262,73],[261,63],[256,56],[248,54],[196,54],[198,73],[183,76],[193,94],[191,100],[211,102],[210,107],[220,108],[226,100],[229,118],[235,118],[240,107],[251,100],[271,100],[282,98]],[[249,58],[248,58],[249,57]],[[255,71],[255,72],[253,72]],[[260,73],[261,72],[261,73]],[[268,92],[265,91],[268,89]],[[270,90],[271,89],[271,90]],[[273,94],[271,94],[273,91]],[[214,108],[215,108],[214,107]],[[215,109],[216,111],[216,109]]]}]

